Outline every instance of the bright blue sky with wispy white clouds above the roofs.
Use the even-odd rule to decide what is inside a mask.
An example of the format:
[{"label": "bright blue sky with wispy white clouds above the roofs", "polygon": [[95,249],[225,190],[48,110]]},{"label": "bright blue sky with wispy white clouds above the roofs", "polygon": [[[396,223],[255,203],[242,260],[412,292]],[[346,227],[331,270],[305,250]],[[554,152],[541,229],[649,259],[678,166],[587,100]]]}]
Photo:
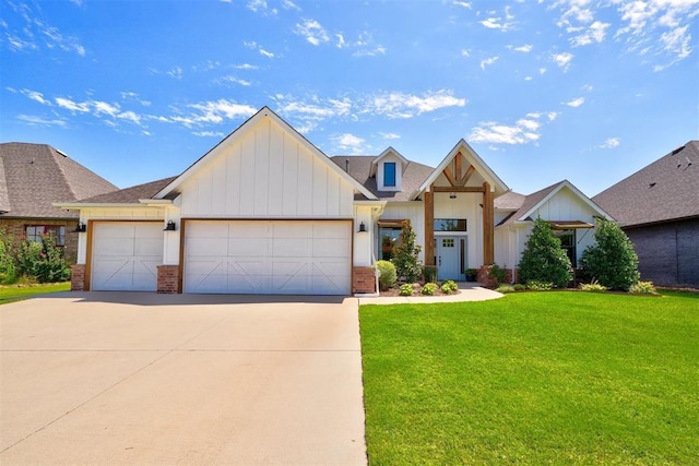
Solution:
[{"label": "bright blue sky with wispy white clouds above the roofs", "polygon": [[588,195],[699,139],[699,0],[0,0],[0,141],[119,187],[269,106],[325,154],[436,166],[465,139],[514,191]]}]

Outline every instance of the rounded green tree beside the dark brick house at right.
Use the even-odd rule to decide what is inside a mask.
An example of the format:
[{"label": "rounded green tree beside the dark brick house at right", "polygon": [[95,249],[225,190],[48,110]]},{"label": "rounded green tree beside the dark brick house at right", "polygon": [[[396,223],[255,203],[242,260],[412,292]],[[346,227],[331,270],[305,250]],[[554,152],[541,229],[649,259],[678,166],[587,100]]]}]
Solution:
[{"label": "rounded green tree beside the dark brick house at right", "polygon": [[597,220],[594,240],[596,244],[582,253],[582,268],[601,285],[628,291],[640,278],[633,243],[615,222],[604,218]]}]

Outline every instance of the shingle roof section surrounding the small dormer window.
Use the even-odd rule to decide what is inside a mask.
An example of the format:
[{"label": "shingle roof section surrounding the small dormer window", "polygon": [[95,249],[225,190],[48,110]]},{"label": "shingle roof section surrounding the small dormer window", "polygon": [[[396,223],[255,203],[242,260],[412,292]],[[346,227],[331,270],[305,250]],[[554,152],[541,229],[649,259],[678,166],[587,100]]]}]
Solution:
[{"label": "shingle roof section surrounding the small dormer window", "polygon": [[[359,181],[366,189],[371,191],[382,201],[412,201],[411,194],[420,187],[423,181],[429,177],[435,170],[427,165],[418,164],[416,162],[410,162],[403,171],[403,184],[401,191],[379,191],[376,186],[376,178],[369,177],[371,169],[371,160],[376,156],[374,155],[336,155],[330,157],[340,168],[347,169],[347,172],[357,181]],[[350,163],[347,165],[347,162]],[[362,196],[364,198],[364,196]]]}]

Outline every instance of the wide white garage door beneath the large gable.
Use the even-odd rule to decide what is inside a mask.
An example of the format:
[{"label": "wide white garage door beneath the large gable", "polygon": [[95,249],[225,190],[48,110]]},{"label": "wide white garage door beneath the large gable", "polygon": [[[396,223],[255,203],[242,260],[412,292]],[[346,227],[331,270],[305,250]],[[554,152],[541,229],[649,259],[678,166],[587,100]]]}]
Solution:
[{"label": "wide white garage door beneath the large gable", "polygon": [[188,220],[185,292],[348,295],[347,220]]}]

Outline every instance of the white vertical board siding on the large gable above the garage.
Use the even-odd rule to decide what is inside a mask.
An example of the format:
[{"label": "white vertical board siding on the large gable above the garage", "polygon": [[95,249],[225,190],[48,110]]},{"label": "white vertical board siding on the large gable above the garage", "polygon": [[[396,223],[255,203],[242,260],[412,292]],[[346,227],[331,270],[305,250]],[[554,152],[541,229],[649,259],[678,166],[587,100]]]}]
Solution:
[{"label": "white vertical board siding on the large gable above the garage", "polygon": [[181,189],[181,216],[351,218],[353,187],[270,119],[260,120]]}]

